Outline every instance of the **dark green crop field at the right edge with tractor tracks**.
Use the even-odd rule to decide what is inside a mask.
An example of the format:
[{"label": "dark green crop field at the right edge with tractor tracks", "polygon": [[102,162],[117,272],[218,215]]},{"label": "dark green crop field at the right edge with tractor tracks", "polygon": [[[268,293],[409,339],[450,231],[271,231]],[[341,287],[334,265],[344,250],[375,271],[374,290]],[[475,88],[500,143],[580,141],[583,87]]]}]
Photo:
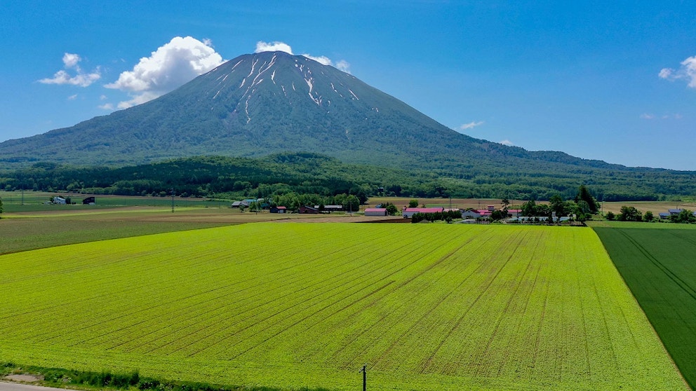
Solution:
[{"label": "dark green crop field at the right edge with tractor tracks", "polygon": [[692,387],[696,387],[696,226],[594,228]]}]

